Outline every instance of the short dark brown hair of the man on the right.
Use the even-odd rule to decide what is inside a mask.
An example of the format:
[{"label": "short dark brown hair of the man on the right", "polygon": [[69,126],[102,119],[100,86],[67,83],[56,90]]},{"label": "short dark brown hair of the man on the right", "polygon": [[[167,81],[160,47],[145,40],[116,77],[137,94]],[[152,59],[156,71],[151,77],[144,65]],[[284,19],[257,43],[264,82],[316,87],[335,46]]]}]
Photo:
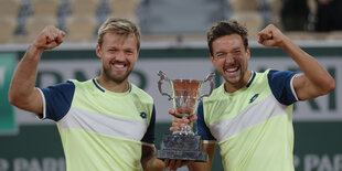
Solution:
[{"label": "short dark brown hair of the man on the right", "polygon": [[215,23],[206,32],[206,41],[209,45],[209,51],[212,56],[213,56],[213,42],[221,36],[231,35],[231,34],[238,34],[239,36],[242,36],[245,49],[248,47],[247,29],[241,25],[239,23],[237,23],[237,21],[235,20],[232,20],[232,21],[224,20],[224,21],[220,21]]}]

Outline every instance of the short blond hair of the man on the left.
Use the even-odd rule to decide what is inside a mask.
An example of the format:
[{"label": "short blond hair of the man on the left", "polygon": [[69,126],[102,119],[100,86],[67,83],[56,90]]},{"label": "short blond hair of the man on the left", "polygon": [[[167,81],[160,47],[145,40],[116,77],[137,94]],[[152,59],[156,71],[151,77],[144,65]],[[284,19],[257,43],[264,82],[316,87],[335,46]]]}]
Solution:
[{"label": "short blond hair of the man on the left", "polygon": [[97,43],[100,47],[104,42],[104,35],[108,32],[114,32],[124,38],[133,34],[137,39],[137,49],[138,51],[140,50],[140,31],[135,23],[126,19],[108,18],[98,29]]}]

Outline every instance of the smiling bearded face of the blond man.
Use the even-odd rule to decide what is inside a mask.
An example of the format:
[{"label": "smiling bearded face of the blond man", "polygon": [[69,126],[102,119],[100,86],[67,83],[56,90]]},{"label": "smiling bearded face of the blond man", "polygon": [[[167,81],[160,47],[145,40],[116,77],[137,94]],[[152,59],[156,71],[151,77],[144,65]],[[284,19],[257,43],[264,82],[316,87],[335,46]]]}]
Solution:
[{"label": "smiling bearded face of the blond man", "polygon": [[100,77],[121,84],[127,82],[138,60],[137,39],[133,34],[125,36],[107,32],[104,35],[103,44],[97,45],[96,53],[103,62]]}]

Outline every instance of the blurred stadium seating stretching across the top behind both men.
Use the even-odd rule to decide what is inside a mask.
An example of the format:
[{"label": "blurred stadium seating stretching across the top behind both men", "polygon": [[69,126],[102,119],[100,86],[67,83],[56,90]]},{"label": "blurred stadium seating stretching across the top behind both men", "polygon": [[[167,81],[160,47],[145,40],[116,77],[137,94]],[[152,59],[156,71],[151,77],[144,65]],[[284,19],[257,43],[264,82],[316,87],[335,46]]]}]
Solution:
[{"label": "blurred stadium seating stretching across the top behind both men", "polygon": [[0,0],[0,43],[31,42],[47,24],[65,31],[67,42],[92,42],[108,15],[139,23],[151,40],[204,35],[225,19],[249,28],[250,39],[269,23],[284,32],[342,31],[342,0]]}]

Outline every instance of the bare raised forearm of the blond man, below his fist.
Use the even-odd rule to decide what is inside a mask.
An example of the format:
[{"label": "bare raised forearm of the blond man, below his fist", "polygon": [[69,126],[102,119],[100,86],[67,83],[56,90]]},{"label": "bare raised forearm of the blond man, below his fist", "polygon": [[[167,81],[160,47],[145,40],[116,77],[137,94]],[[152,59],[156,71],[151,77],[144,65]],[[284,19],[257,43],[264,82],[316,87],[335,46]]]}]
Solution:
[{"label": "bare raised forearm of the blond man, below his fist", "polygon": [[38,65],[43,50],[30,46],[25,55],[18,64],[9,89],[9,98],[12,104],[24,104],[30,100],[34,92]]}]

